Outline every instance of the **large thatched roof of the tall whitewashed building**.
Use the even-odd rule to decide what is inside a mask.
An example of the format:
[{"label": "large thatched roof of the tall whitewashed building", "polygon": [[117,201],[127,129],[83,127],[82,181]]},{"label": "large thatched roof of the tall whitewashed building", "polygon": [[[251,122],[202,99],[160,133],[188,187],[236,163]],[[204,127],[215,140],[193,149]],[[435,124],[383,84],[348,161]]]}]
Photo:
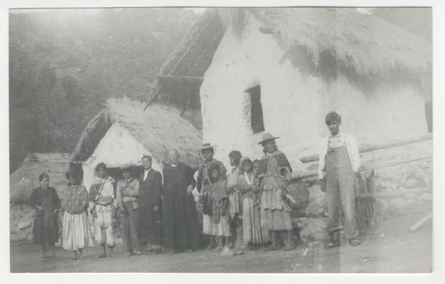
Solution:
[{"label": "large thatched roof of the tall whitewashed building", "polygon": [[200,84],[225,27],[242,31],[247,14],[264,23],[295,66],[313,75],[411,80],[431,68],[430,43],[353,8],[208,9],[161,68],[149,102],[200,107]]}]

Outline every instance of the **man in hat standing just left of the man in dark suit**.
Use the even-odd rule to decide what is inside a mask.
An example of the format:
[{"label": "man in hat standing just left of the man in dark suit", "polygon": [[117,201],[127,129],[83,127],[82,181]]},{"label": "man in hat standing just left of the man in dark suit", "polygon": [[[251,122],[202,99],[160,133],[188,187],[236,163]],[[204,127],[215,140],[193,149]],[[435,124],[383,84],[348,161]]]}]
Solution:
[{"label": "man in hat standing just left of the man in dark suit", "polygon": [[135,166],[122,165],[120,172],[122,179],[117,182],[117,206],[122,216],[122,239],[128,256],[141,254],[139,241],[138,196],[139,180],[134,178]]}]

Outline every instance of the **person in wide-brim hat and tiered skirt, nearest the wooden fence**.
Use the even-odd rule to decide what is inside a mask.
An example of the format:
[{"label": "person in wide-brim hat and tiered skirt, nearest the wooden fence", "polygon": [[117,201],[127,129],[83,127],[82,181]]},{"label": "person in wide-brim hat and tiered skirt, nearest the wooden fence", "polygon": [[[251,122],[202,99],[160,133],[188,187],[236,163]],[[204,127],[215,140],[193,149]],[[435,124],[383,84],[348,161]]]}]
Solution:
[{"label": "person in wide-brim hat and tiered skirt, nearest the wooden fence", "polygon": [[290,207],[286,197],[286,187],[290,179],[291,165],[286,155],[278,150],[275,139],[270,133],[264,133],[262,141],[264,155],[259,160],[262,175],[261,224],[269,230],[272,245],[266,251],[280,249],[278,234],[286,231],[284,250],[294,249]]}]

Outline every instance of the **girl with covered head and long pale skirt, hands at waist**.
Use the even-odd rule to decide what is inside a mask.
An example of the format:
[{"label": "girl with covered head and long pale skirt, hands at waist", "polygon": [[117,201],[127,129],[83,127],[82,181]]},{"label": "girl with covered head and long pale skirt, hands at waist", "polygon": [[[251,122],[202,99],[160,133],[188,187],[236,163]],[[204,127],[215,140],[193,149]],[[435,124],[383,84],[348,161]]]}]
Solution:
[{"label": "girl with covered head and long pale skirt, hands at waist", "polygon": [[267,241],[267,230],[262,229],[260,220],[259,181],[255,176],[250,158],[243,157],[240,162],[238,188],[242,194],[242,248],[254,249]]}]

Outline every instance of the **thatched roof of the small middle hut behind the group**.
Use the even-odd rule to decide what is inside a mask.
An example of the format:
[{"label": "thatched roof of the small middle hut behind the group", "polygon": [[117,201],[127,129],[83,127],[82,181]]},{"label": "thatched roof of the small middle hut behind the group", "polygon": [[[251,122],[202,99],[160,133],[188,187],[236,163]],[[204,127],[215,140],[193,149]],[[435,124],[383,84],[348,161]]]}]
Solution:
[{"label": "thatched roof of the small middle hut behind the group", "polygon": [[161,162],[166,162],[168,150],[176,149],[184,163],[192,167],[200,163],[202,136],[176,109],[151,105],[144,111],[142,102],[127,98],[107,100],[106,107],[83,131],[71,160],[87,160],[115,122],[127,129]]}]

